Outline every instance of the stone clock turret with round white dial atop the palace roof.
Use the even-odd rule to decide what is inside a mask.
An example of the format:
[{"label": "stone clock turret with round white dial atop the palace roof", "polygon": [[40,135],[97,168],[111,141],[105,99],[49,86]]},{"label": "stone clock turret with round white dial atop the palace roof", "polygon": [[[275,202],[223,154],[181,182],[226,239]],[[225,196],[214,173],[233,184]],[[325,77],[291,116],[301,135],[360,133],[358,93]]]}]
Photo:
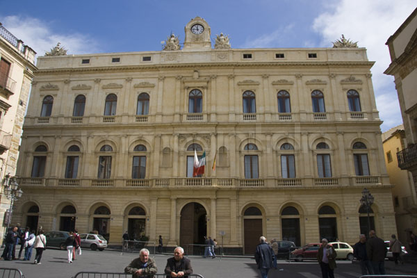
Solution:
[{"label": "stone clock turret with round white dial atop the palace roof", "polygon": [[201,17],[195,17],[184,28],[186,39],[183,50],[211,49],[211,29]]}]

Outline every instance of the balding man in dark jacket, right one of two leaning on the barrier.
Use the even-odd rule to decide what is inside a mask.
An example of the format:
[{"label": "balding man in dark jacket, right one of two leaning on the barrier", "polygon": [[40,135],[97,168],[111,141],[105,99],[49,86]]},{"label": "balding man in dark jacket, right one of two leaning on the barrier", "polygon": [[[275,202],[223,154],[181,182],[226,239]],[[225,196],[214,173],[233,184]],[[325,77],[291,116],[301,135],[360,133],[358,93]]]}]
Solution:
[{"label": "balding man in dark jacket, right one of two leaning on the barrier", "polygon": [[174,256],[170,259],[167,259],[167,265],[165,266],[165,274],[167,275],[167,278],[188,278],[189,274],[193,274],[191,262],[189,259],[184,257],[184,250],[182,249],[182,247],[175,248]]}]

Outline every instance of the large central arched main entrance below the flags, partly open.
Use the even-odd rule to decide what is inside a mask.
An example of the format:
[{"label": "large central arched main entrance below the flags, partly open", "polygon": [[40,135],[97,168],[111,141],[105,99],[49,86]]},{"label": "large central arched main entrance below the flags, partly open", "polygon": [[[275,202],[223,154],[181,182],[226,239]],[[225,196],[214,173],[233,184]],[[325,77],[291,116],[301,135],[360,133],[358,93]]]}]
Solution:
[{"label": "large central arched main entrance below the flags, partly open", "polygon": [[[181,209],[179,244],[187,250],[189,244],[204,244],[207,235],[207,212],[199,203],[186,204]],[[190,249],[188,249],[190,252]],[[193,252],[190,252],[193,254]]]}]

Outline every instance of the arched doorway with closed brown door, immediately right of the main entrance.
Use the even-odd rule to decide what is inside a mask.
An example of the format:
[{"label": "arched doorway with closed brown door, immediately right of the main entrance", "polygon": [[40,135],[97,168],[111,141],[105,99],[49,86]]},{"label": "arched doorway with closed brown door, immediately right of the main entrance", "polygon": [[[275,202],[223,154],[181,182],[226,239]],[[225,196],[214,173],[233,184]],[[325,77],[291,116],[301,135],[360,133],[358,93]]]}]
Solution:
[{"label": "arched doorway with closed brown door, immediately right of the main entrance", "polygon": [[244,253],[254,254],[259,238],[262,236],[262,212],[256,206],[250,206],[243,213]]}]

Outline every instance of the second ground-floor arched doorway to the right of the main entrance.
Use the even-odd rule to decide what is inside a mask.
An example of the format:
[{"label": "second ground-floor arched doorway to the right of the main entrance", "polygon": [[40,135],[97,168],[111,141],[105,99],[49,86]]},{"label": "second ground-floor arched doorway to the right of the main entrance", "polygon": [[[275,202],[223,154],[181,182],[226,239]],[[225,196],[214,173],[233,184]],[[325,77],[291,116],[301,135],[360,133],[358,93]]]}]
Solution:
[{"label": "second ground-floor arched doorway to the right of the main entrance", "polygon": [[281,211],[282,240],[293,241],[301,246],[300,240],[300,213],[294,206],[286,206]]}]

